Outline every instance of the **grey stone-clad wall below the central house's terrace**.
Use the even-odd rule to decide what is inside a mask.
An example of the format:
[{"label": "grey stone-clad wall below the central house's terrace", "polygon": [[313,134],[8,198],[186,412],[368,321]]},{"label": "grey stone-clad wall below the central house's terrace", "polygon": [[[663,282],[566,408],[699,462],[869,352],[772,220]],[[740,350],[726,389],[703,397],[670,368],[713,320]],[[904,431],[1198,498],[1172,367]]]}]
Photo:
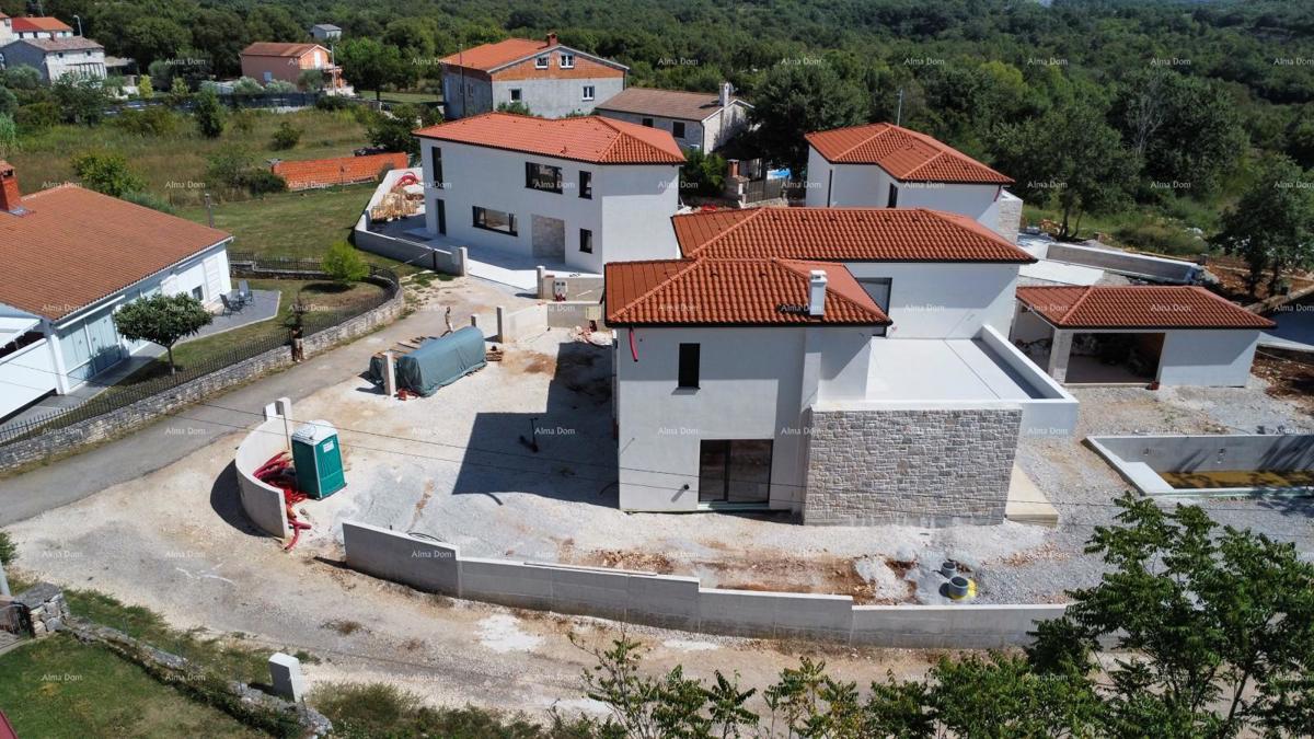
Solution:
[{"label": "grey stone-clad wall below the central house's terrace", "polygon": [[1004,521],[1021,409],[892,408],[811,416],[804,523]]}]

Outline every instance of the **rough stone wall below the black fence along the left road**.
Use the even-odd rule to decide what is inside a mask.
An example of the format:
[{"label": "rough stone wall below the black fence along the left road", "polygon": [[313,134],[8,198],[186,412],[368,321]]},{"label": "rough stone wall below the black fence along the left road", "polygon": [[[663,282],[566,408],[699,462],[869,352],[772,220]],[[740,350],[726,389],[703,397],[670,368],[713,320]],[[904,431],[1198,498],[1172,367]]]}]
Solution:
[{"label": "rough stone wall below the black fence along the left road", "polygon": [[[305,359],[332,346],[355,339],[378,326],[396,321],[406,309],[405,292],[397,291],[392,300],[304,339]],[[88,418],[62,429],[0,447],[0,472],[46,459],[50,455],[74,451],[79,447],[105,442],[154,422],[162,416],[180,410],[222,391],[248,383],[261,375],[292,367],[292,347],[281,346],[204,375],[176,388],[142,398],[131,405]]]}]

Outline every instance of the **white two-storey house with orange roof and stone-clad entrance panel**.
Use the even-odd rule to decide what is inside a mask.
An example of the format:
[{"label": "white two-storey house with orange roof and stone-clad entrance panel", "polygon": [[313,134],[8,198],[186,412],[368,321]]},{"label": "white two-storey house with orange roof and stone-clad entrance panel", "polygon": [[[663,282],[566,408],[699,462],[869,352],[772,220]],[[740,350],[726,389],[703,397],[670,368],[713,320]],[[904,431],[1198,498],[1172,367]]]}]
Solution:
[{"label": "white two-storey house with orange roof and stone-clad entrance panel", "polygon": [[415,135],[431,234],[595,274],[677,255],[685,155],[666,131],[485,113]]}]

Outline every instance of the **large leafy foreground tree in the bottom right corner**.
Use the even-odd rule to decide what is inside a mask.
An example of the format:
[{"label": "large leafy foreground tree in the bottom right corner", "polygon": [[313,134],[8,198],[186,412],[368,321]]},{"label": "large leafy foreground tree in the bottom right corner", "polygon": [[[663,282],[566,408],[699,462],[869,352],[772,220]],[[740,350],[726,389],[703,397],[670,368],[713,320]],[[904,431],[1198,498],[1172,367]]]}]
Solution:
[{"label": "large leafy foreground tree in the bottom right corner", "polygon": [[[1037,631],[1053,676],[1104,672],[1102,734],[1235,736],[1314,731],[1314,564],[1296,546],[1225,526],[1198,506],[1126,493],[1118,526],[1087,546],[1108,565]],[[1118,657],[1095,654],[1112,642]]]}]

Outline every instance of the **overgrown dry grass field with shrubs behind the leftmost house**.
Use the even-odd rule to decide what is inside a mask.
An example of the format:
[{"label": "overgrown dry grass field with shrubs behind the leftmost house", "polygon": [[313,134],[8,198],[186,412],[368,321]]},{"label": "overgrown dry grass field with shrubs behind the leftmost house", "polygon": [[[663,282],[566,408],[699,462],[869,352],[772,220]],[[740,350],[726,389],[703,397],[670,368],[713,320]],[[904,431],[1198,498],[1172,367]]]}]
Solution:
[{"label": "overgrown dry grass field with shrubs behind the leftmost house", "polygon": [[[17,168],[24,192],[34,192],[75,180],[70,159],[76,154],[88,150],[118,153],[146,179],[150,192],[183,206],[202,201],[212,187],[205,181],[206,160],[219,151],[238,147],[256,162],[317,159],[350,156],[353,149],[368,143],[364,126],[351,110],[251,110],[250,120],[251,130],[243,133],[230,116],[223,135],[215,139],[200,135],[189,116],[179,116],[177,131],[172,135],[138,135],[113,120],[95,128],[53,126],[24,135],[9,160]],[[271,138],[284,121],[301,129],[301,142],[294,149],[276,151],[269,146]]]}]

